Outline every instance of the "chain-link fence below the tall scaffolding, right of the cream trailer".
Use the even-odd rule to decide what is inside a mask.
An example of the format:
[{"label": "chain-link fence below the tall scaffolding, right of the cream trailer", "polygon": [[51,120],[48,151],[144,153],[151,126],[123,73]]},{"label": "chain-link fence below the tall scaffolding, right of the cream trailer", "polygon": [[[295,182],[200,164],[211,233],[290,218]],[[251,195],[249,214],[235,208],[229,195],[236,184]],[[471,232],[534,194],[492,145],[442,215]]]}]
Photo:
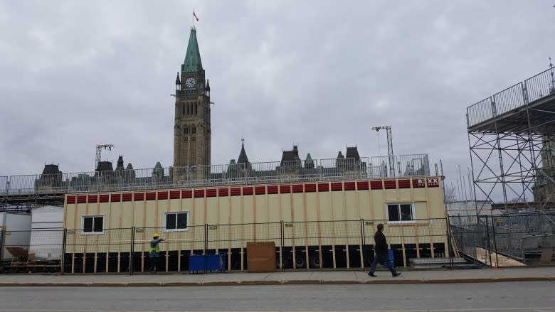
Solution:
[{"label": "chain-link fence below the tall scaffolding, right of the cream trailer", "polygon": [[555,265],[555,213],[450,217],[455,248],[491,267]]}]

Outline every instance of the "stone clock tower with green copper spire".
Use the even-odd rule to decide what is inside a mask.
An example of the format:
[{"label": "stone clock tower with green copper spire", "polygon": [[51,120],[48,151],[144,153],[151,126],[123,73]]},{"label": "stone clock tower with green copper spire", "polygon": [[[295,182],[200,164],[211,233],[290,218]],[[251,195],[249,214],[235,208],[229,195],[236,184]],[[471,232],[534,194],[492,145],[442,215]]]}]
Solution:
[{"label": "stone clock tower with green copper spire", "polygon": [[[184,177],[179,167],[210,166],[210,144],[210,85],[204,77],[196,28],[191,28],[185,60],[175,81],[174,168],[179,179],[208,178],[209,170],[197,168],[193,177]],[[193,174],[181,170],[185,172]]]}]

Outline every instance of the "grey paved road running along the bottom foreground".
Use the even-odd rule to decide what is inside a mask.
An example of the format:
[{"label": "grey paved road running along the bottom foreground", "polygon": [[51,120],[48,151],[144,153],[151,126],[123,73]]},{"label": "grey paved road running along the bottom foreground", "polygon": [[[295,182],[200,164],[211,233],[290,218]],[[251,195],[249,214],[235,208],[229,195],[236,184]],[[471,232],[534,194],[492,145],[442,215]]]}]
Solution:
[{"label": "grey paved road running along the bottom foreground", "polygon": [[555,312],[555,282],[420,285],[4,287],[0,312]]}]

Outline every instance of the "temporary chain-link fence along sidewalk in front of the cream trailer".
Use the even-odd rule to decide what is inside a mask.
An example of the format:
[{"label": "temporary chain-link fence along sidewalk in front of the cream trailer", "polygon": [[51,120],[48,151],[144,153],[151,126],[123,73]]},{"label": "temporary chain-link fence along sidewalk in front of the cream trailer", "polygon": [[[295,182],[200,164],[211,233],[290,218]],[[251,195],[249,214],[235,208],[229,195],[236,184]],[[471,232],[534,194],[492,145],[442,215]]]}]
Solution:
[{"label": "temporary chain-link fence along sidewalk in front of the cream trailer", "polygon": [[[445,219],[411,222],[342,220],[319,222],[268,222],[230,225],[186,226],[176,229],[38,229],[2,232],[6,271],[60,271],[70,273],[126,273],[189,270],[191,255],[221,254],[223,269],[248,269],[247,243],[273,242],[276,269],[362,269],[374,260],[376,225],[384,233],[397,267],[408,267],[415,258],[448,255]],[[159,257],[149,257],[150,242],[157,233]],[[8,239],[6,239],[8,237]]]}]

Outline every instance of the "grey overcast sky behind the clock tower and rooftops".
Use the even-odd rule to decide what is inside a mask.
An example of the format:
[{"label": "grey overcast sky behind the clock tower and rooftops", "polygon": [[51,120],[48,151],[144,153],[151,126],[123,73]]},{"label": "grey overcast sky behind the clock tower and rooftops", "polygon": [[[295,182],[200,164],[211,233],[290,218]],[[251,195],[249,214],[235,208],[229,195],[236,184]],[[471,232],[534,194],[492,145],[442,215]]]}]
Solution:
[{"label": "grey overcast sky behind the clock tower and rooftops", "polygon": [[[192,11],[213,164],[334,158],[346,146],[470,166],[466,108],[546,70],[555,1],[0,0],[0,176],[173,162]],[[432,165],[433,166],[433,165]]]}]

